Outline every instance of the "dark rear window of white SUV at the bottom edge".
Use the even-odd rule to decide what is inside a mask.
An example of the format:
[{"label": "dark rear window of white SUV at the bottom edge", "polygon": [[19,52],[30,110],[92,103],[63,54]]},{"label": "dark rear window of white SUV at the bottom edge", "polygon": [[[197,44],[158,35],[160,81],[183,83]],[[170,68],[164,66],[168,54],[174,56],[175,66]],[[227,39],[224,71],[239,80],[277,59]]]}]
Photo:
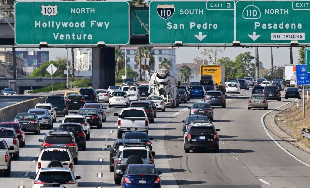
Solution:
[{"label": "dark rear window of white SUV at the bottom edge", "polygon": [[38,180],[47,183],[62,183],[62,182],[70,182],[72,180],[72,176],[70,172],[63,171],[52,171],[52,172],[41,172]]}]

